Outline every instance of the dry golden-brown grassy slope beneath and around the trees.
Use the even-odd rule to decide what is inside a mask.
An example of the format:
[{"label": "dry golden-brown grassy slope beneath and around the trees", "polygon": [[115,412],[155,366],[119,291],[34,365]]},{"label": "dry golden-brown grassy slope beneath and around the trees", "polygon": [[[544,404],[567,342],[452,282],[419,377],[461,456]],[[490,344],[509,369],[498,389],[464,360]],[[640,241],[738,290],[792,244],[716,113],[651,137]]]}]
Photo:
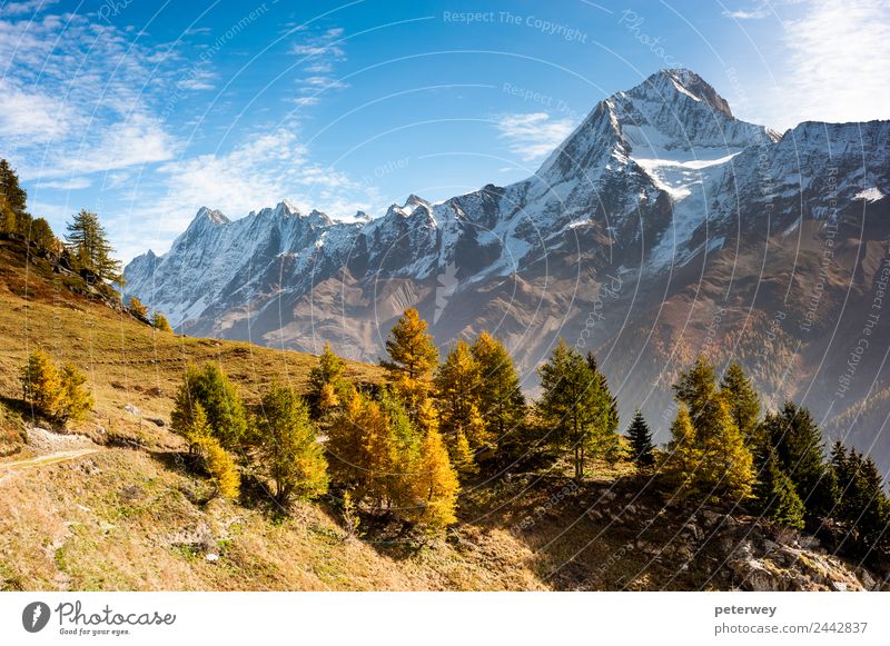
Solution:
[{"label": "dry golden-brown grassy slope beneath and around the trees", "polygon": [[[87,371],[96,397],[88,419],[67,429],[28,424],[18,371],[37,346]],[[666,505],[623,463],[593,464],[580,487],[561,463],[465,486],[458,524],[426,541],[374,518],[363,519],[360,538],[349,537],[336,496],[296,503],[287,516],[261,491],[207,503],[206,481],[185,467],[182,443],[167,426],[182,369],[205,360],[219,361],[248,401],[273,378],[303,387],[315,362],[158,334],[90,296],[76,276],[0,241],[0,589],[862,585],[824,551],[778,549],[782,537],[751,518]],[[348,372],[380,377],[360,364]]]}]

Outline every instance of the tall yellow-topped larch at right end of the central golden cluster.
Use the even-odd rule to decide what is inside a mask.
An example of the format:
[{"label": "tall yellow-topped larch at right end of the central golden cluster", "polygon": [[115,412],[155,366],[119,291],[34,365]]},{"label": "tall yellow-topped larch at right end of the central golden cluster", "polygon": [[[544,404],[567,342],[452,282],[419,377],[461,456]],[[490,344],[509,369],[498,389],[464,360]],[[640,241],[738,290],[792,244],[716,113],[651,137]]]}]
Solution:
[{"label": "tall yellow-topped larch at right end of the central golden cluster", "polygon": [[513,357],[487,331],[475,340],[472,352],[478,366],[478,408],[486,435],[500,447],[512,445],[524,449],[517,445],[522,440],[526,404]]}]

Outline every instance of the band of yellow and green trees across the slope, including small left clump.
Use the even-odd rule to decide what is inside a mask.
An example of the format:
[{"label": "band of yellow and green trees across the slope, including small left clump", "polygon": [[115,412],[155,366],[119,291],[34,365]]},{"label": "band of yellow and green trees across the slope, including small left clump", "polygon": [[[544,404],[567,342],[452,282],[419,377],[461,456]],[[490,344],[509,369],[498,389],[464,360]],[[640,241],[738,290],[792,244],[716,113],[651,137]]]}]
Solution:
[{"label": "band of yellow and green trees across the slope, including small left clump", "polygon": [[[765,415],[739,364],[718,380],[700,358],[673,386],[670,441],[653,445],[637,409],[619,434],[617,401],[592,354],[560,340],[527,401],[510,352],[493,335],[458,340],[439,362],[426,322],[408,309],[392,328],[383,384],[357,384],[325,344],[308,389],[273,382],[247,406],[215,364],[188,366],[171,428],[211,495],[237,498],[249,477],[281,509],[336,489],[344,521],[387,514],[431,533],[456,521],[474,478],[565,460],[581,484],[591,460],[630,459],[669,499],[755,513],[782,526],[833,523],[856,548],[887,549],[890,500],[869,456],[835,441],[829,455],[811,414],[791,401]],[[26,400],[57,420],[92,405],[76,367],[34,352]],[[560,468],[556,465],[556,468]]]}]

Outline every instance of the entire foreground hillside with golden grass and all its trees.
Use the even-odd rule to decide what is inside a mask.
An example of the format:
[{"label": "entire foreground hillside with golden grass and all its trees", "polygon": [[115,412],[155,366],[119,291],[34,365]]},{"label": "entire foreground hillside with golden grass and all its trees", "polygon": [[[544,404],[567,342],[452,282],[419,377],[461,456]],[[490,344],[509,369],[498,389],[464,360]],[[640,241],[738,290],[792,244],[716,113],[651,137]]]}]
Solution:
[{"label": "entire foreground hillside with golden grass and all its trees", "polygon": [[530,399],[414,309],[376,366],[177,336],[95,213],[38,241],[0,170],[3,589],[887,586],[874,461],[739,365],[682,371],[656,447],[564,340]]}]

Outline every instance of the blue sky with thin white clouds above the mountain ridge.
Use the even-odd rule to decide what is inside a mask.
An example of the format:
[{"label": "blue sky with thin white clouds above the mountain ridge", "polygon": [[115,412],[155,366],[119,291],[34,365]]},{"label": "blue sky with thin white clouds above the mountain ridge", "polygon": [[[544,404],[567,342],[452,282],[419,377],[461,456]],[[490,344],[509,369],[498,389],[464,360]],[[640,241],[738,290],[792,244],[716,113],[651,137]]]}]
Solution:
[{"label": "blue sky with thin white clouds above the mountain ridge", "polygon": [[888,118],[887,60],[880,0],[0,0],[0,156],[129,259],[200,206],[348,219],[522,179],[665,67],[780,131]]}]

